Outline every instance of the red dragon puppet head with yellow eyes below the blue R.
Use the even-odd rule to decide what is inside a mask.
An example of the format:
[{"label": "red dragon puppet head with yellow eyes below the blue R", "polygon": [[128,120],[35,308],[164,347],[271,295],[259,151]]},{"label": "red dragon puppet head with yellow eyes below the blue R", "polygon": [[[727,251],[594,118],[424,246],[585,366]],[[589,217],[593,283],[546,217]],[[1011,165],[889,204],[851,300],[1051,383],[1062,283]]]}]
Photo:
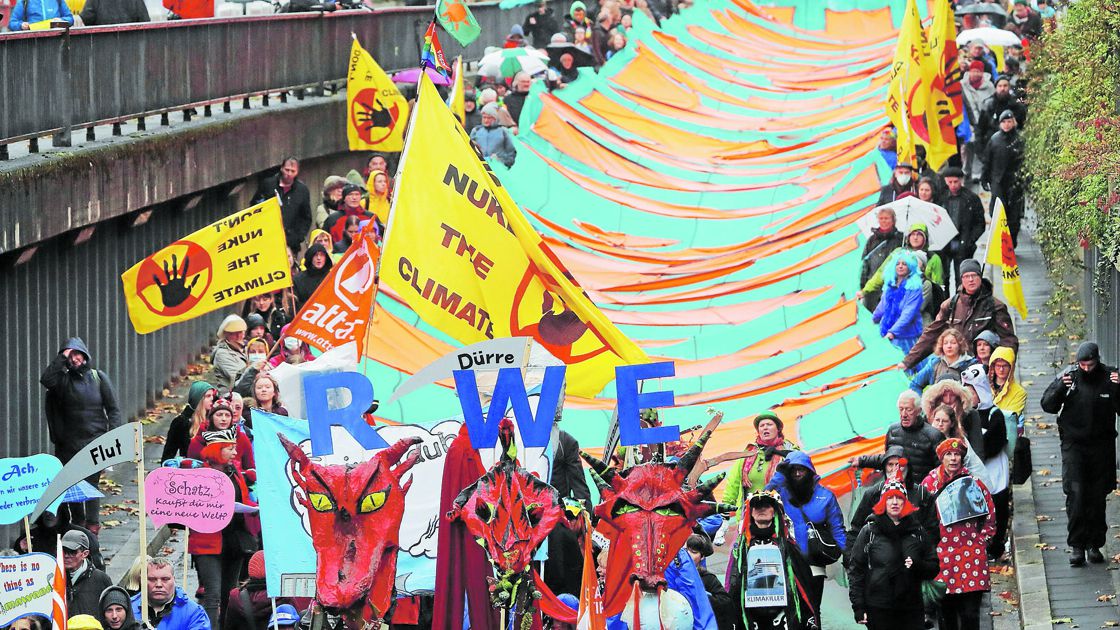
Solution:
[{"label": "red dragon puppet head with yellow eyes below the blue R", "polygon": [[401,457],[420,438],[401,439],[360,464],[319,465],[283,435],[278,437],[311,525],[316,599],[340,615],[347,630],[380,628],[393,602],[404,494],[412,484],[401,478],[420,451],[403,462]]}]

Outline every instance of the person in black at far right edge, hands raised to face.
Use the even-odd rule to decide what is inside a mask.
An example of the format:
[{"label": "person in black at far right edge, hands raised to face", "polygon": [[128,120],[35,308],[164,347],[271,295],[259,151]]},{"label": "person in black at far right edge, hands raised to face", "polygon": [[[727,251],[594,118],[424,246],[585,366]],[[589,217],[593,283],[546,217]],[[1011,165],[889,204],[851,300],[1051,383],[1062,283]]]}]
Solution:
[{"label": "person in black at far right edge, hands raised to face", "polygon": [[1047,414],[1057,414],[1070,564],[1082,566],[1086,550],[1090,562],[1104,562],[1101,547],[1109,528],[1104,500],[1117,485],[1120,373],[1101,362],[1093,342],[1082,343],[1075,360],[1043,392],[1042,406]]}]

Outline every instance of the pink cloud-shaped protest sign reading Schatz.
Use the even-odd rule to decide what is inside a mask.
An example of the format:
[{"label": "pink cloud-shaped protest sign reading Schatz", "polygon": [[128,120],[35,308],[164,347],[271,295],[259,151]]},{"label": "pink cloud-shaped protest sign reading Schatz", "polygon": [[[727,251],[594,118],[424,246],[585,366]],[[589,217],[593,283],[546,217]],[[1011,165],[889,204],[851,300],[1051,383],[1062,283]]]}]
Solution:
[{"label": "pink cloud-shaped protest sign reading Schatz", "polygon": [[221,531],[233,518],[233,482],[213,469],[156,469],[143,483],[148,517],[156,525]]}]

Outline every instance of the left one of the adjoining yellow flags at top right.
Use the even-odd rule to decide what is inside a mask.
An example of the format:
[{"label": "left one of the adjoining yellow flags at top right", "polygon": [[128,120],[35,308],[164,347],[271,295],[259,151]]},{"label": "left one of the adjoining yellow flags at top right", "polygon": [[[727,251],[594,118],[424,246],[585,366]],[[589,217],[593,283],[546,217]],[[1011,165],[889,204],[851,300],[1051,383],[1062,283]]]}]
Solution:
[{"label": "left one of the adjoining yellow flags at top right", "polygon": [[[887,91],[887,117],[898,130],[898,161],[916,165],[914,147],[924,133],[928,138],[925,109],[928,86],[923,86],[926,59],[930,56],[922,19],[915,0],[906,3],[898,45],[890,65],[890,86]],[[924,142],[923,142],[924,143]]]}]

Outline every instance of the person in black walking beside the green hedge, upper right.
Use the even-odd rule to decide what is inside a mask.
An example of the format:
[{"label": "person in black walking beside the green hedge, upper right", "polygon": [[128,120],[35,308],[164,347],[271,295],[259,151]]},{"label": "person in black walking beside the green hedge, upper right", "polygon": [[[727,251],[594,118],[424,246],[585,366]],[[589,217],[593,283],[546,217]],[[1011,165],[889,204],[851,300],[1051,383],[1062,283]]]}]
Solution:
[{"label": "person in black walking beside the green hedge, upper right", "polygon": [[1019,170],[1026,147],[1019,136],[1015,112],[1004,110],[999,114],[999,131],[988,141],[983,175],[983,189],[991,191],[989,214],[996,214],[996,200],[1004,202],[1007,214],[1007,230],[1011,233],[1011,245],[1019,245],[1019,225],[1023,222],[1024,185]]}]

